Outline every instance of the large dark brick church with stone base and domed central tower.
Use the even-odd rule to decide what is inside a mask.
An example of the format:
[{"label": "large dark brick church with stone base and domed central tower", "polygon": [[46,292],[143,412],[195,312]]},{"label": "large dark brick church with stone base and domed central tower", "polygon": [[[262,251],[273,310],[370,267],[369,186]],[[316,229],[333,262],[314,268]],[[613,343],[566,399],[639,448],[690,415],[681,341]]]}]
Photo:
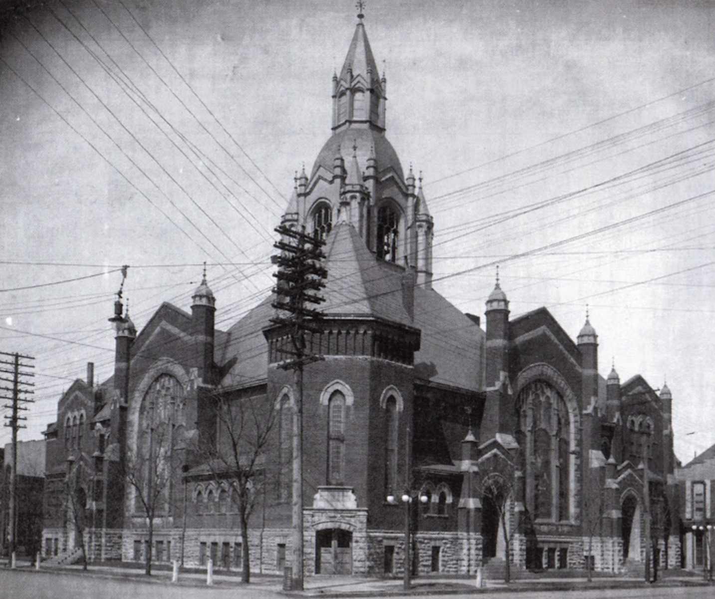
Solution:
[{"label": "large dark brick church with stone base and domed central tower", "polygon": [[[388,140],[386,86],[360,15],[325,98],[330,136],[280,223],[325,241],[324,317],[309,342],[324,359],[305,367],[303,391],[305,573],[401,573],[403,496],[415,573],[474,573],[507,544],[517,569],[620,572],[644,560],[648,506],[661,565],[679,565],[671,393],[601,376],[588,316],[574,341],[546,308],[512,317],[498,279],[484,320],[433,289],[435,223]],[[270,320],[272,297],[218,330],[220,301],[204,273],[190,312],[164,303],[137,332],[118,300],[113,377],[97,383],[90,369],[45,432],[48,558],[77,555],[82,512],[91,560],[142,561],[151,548],[155,563],[240,570],[247,538],[253,572],[290,565],[288,332]],[[217,397],[275,410],[247,537],[230,476],[196,449],[225,442]],[[171,472],[149,538],[144,487],[126,468],[159,431],[169,445],[142,470],[146,488]]]}]

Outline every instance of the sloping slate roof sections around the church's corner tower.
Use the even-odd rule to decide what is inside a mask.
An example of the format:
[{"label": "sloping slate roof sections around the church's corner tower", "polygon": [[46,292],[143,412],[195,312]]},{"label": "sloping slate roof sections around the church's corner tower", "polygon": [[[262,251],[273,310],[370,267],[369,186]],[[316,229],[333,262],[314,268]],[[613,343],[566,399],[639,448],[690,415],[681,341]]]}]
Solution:
[{"label": "sloping slate roof sections around the church's corner tower", "polygon": [[[477,392],[483,386],[484,332],[433,289],[414,289],[414,316],[405,298],[408,274],[377,259],[355,227],[338,223],[325,245],[328,277],[320,309],[326,317],[375,317],[421,330],[415,354],[415,375],[425,382]],[[226,386],[260,384],[267,377],[267,343],[262,330],[270,325],[272,296],[230,328],[217,362],[237,357],[224,377]]]}]

